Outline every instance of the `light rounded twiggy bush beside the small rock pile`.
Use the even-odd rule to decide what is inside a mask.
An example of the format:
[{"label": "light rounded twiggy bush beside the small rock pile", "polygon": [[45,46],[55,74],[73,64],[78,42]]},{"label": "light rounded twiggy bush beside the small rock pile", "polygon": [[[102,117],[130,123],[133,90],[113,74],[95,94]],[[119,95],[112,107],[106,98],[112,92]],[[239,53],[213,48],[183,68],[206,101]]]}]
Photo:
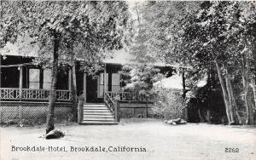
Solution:
[{"label": "light rounded twiggy bush beside the small rock pile", "polygon": [[166,119],[183,117],[185,101],[182,97],[182,91],[177,89],[155,88],[156,102],[152,107],[154,115]]}]

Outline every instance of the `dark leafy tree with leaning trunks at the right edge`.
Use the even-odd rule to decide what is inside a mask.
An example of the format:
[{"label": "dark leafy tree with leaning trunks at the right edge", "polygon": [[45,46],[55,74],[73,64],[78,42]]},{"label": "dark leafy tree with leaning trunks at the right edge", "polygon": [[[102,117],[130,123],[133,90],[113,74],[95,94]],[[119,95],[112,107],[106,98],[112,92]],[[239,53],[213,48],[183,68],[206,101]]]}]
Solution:
[{"label": "dark leafy tree with leaning trunks at the right edge", "polygon": [[[247,30],[252,29],[244,22],[250,20],[248,17],[246,18],[245,9],[249,9],[247,13],[252,16],[255,8],[250,6],[250,3],[238,2],[203,4],[201,12],[197,14],[198,18],[195,19],[197,23],[194,24],[193,28],[196,30],[194,30],[195,32],[192,31],[195,37],[189,40],[189,43],[193,45],[191,48],[194,47],[194,51],[197,52],[195,57],[201,59],[196,61],[199,61],[199,64],[204,64],[202,62],[204,60],[208,66],[215,64],[229,123],[241,123],[236,102],[239,94],[234,93],[234,83],[237,90],[241,88],[241,83],[236,83],[236,81],[240,79],[240,82],[243,82],[246,123],[252,124],[253,109],[248,94],[249,78],[247,75],[253,69],[249,67],[249,57],[252,56],[249,52],[245,52],[245,49],[247,50],[247,37],[252,36],[251,33],[248,34]],[[193,28],[189,28],[188,31]],[[239,78],[240,75],[242,75],[241,78]],[[240,107],[240,109],[242,108]]]}]

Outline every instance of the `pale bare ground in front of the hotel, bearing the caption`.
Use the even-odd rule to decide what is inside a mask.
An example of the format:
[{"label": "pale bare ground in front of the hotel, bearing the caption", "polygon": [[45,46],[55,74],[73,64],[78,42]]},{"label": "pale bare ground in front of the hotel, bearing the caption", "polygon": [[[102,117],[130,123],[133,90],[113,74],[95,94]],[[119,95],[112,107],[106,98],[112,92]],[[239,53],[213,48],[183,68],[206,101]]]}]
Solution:
[{"label": "pale bare ground in front of the hotel, bearing the caption", "polygon": [[[65,137],[45,140],[44,125],[0,128],[0,159],[256,159],[255,127],[206,123],[171,126],[156,119],[122,119],[119,125],[73,123],[55,127],[64,131]],[[47,151],[12,151],[13,146],[41,146]],[[49,146],[65,146],[65,151],[50,151]],[[107,151],[75,152],[71,151],[72,146],[102,146]],[[108,151],[109,147],[113,150],[111,146],[137,147],[141,151]],[[225,148],[235,148],[235,152],[226,152]]]}]

